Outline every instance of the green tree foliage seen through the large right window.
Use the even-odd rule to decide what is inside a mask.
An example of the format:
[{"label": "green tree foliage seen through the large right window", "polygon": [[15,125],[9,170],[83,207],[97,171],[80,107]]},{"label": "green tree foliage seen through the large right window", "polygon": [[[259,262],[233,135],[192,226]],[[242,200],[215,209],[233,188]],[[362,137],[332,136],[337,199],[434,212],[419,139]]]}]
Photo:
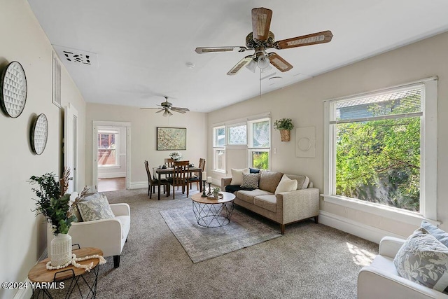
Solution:
[{"label": "green tree foliage seen through the large right window", "polygon": [[337,195],[419,211],[419,117],[340,123],[336,141]]}]

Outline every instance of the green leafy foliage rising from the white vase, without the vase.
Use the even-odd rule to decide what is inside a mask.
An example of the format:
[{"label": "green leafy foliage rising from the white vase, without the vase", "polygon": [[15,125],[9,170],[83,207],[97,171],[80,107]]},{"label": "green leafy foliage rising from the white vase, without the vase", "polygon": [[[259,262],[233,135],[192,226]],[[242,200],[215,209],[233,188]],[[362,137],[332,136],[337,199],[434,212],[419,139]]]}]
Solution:
[{"label": "green leafy foliage rising from the white vase, without the vase", "polygon": [[31,176],[29,183],[31,185],[38,185],[39,188],[31,188],[39,197],[36,200],[36,209],[32,210],[38,214],[42,214],[45,221],[52,225],[53,234],[66,234],[73,221],[76,221],[76,216],[73,215],[73,209],[76,209],[76,204],[85,197],[87,187],[76,198],[76,200],[69,204],[70,194],[66,194],[69,188],[70,170],[64,169],[62,179],[59,182],[55,179],[55,174],[46,173],[42,176]]}]

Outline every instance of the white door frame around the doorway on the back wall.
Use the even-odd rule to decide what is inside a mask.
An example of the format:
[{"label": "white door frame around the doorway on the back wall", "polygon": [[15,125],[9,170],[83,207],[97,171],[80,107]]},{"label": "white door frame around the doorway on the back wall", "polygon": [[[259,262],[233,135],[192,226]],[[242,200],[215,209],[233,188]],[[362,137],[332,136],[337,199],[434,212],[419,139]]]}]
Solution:
[{"label": "white door frame around the doorway on the back wall", "polygon": [[98,127],[126,127],[126,189],[131,184],[131,123],[120,121],[94,120],[92,136],[92,190],[98,192]]}]

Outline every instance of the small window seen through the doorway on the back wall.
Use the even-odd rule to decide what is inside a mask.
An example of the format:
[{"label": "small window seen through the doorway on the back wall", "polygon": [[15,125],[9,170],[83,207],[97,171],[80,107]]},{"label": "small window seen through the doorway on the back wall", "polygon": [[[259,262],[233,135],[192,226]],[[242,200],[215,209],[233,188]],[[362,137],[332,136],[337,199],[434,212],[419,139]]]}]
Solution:
[{"label": "small window seen through the doorway on the back wall", "polygon": [[117,130],[98,131],[98,167],[117,167],[119,165]]}]

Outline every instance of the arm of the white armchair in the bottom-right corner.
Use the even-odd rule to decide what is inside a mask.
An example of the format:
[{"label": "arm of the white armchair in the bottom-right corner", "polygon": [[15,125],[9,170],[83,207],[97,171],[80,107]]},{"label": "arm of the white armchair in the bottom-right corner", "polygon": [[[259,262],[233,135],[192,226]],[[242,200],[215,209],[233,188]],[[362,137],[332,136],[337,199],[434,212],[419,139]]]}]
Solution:
[{"label": "arm of the white armchair in the bottom-right corner", "polygon": [[387,272],[363,267],[358,274],[358,299],[444,298],[448,295]]}]

